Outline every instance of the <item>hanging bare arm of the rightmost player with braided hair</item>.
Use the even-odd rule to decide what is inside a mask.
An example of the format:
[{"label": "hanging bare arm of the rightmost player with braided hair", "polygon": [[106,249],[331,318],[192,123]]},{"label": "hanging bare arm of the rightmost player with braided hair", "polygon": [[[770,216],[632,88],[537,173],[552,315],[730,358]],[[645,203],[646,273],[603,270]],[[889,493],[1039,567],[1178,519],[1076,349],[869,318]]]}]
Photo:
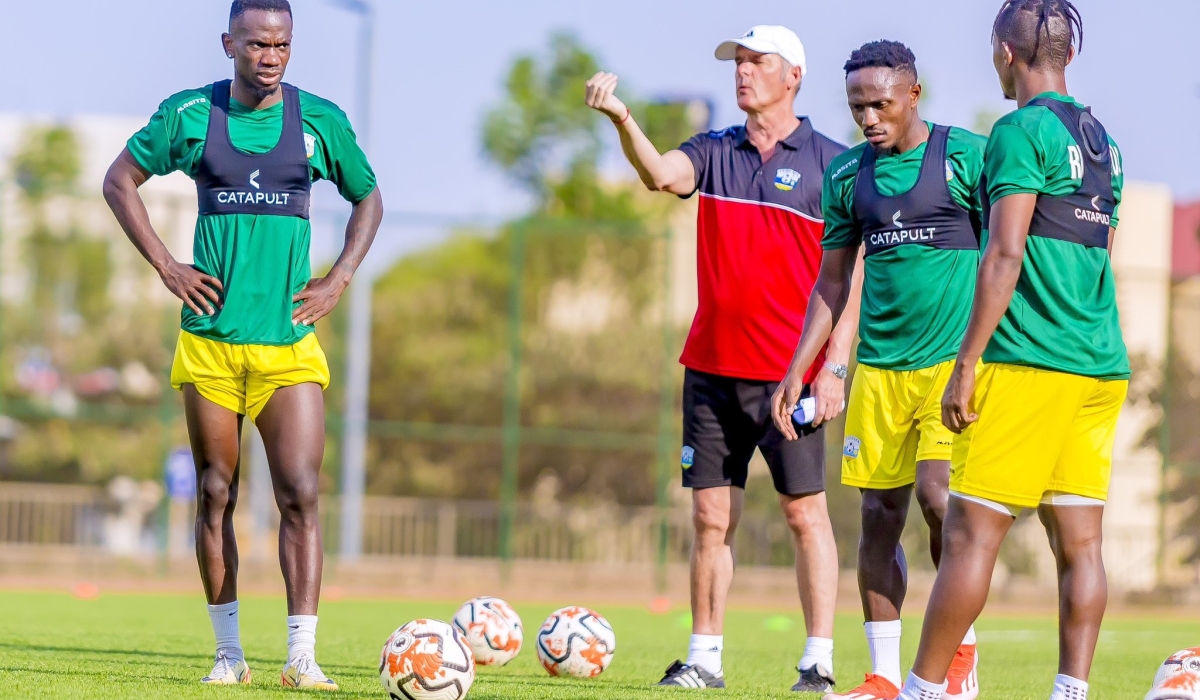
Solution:
[{"label": "hanging bare arm of the rightmost player with braided hair", "polygon": [[962,432],[979,419],[971,406],[976,365],[1013,300],[1037,202],[1037,195],[1009,195],[991,208],[988,247],[979,261],[971,321],[942,396],[942,423],[954,432]]}]

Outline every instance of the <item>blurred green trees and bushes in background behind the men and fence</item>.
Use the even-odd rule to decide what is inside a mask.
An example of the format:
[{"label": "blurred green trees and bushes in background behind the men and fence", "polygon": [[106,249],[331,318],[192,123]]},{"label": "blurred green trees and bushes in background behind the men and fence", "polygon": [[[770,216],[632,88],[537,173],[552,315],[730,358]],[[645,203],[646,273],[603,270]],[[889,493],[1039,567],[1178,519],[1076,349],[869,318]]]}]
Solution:
[{"label": "blurred green trees and bushes in background behind the men and fence", "polygon": [[[493,499],[499,492],[510,289],[521,275],[518,375],[521,424],[538,435],[521,451],[522,499],[646,505],[655,502],[662,431],[679,444],[682,367],[676,363],[690,317],[673,313],[670,265],[677,221],[690,204],[650,195],[614,154],[611,126],[581,98],[600,62],[569,34],[518,56],[504,96],[485,115],[487,157],[532,195],[522,217],[494,228],[458,228],[400,259],[377,282],[373,304],[367,492]],[[710,106],[622,96],[661,150],[707,128]],[[974,124],[985,132],[995,114]],[[82,155],[64,126],[31,130],[11,163],[23,301],[0,306],[0,479],[106,483],[116,474],[161,479],[167,453],[186,444],[180,401],[167,385],[178,304],[118,303],[156,285],[95,192],[79,189]],[[517,246],[518,232],[523,244]],[[1200,233],[1198,233],[1200,235]],[[680,262],[682,261],[682,262]],[[5,269],[11,269],[10,264]],[[19,295],[18,295],[19,297]],[[5,294],[5,299],[14,299]],[[323,490],[338,480],[338,375],[346,309],[319,334],[335,371],[326,394],[331,442]],[[1153,371],[1133,401],[1165,411],[1145,437],[1170,469],[1165,499],[1184,505],[1181,533],[1200,531],[1200,378],[1186,363],[1165,381]],[[671,420],[662,421],[664,391]],[[438,427],[440,426],[440,427]],[[457,431],[457,432],[455,432]],[[596,448],[554,431],[617,433]],[[564,435],[565,435],[564,432]],[[842,562],[852,564],[858,493],[836,487],[840,423],[828,431],[830,513]],[[575,433],[571,433],[575,435]],[[457,437],[456,437],[457,436]],[[748,489],[748,509],[778,509],[764,466]],[[671,469],[674,469],[671,465]],[[686,503],[671,472],[671,498]],[[913,514],[908,558],[928,566],[924,525]],[[1009,555],[1019,572],[1020,551]],[[1192,551],[1200,561],[1200,551]]]}]

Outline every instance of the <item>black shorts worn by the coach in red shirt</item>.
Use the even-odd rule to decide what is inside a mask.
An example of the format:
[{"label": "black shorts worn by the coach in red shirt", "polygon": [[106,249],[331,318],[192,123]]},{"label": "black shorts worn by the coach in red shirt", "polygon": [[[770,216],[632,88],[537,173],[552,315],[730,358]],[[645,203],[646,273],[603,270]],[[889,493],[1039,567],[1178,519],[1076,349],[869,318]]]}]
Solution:
[{"label": "black shorts worn by the coach in red shirt", "polygon": [[745,489],[757,447],[780,493],[824,491],[824,427],[798,430],[799,439],[785,439],[770,418],[770,397],[778,385],[684,372],[680,462],[685,487]]}]

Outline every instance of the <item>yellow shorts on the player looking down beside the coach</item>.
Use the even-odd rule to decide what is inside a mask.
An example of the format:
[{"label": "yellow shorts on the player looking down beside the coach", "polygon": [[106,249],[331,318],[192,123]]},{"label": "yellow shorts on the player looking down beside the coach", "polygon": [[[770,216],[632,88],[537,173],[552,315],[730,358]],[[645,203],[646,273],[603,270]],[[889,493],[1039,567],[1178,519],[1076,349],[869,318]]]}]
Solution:
[{"label": "yellow shorts on the player looking down beside the coach", "polygon": [[895,489],[917,480],[917,462],[950,459],[954,433],[942,425],[942,393],[954,360],[923,370],[858,365],[850,388],[841,483]]}]

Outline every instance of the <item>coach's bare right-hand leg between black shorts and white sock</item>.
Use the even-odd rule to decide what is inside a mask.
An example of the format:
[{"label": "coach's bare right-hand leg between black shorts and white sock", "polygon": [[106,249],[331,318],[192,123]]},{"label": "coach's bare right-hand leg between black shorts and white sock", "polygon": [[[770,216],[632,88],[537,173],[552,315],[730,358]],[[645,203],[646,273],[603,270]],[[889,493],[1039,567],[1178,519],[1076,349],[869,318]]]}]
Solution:
[{"label": "coach's bare right-hand leg between black shorts and white sock", "polygon": [[808,636],[833,639],[838,604],[838,543],[829,522],[824,491],[780,495],[779,505],[796,543],[796,582]]}]

